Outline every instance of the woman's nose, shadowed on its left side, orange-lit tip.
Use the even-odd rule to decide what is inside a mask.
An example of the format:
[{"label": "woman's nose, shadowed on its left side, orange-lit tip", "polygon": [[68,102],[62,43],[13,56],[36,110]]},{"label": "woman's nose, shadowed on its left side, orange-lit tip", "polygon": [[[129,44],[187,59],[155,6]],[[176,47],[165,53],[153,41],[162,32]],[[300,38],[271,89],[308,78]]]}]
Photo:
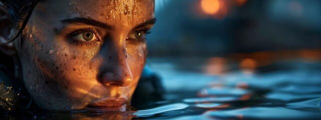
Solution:
[{"label": "woman's nose, shadowed on its left side, orange-lit tip", "polygon": [[104,43],[101,50],[104,65],[100,80],[104,85],[127,86],[132,80],[132,73],[127,63],[125,44],[122,42]]}]

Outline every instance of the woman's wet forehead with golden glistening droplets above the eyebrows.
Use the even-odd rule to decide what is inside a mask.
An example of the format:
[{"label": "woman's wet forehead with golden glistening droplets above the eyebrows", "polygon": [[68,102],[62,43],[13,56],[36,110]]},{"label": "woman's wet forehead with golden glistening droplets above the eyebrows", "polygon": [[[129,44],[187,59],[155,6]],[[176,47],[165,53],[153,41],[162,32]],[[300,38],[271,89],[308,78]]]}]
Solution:
[{"label": "woman's wet forehead with golden glistening droplets above the eyebrows", "polygon": [[154,0],[44,0],[35,10],[49,21],[86,17],[109,24],[134,24],[154,17]]}]

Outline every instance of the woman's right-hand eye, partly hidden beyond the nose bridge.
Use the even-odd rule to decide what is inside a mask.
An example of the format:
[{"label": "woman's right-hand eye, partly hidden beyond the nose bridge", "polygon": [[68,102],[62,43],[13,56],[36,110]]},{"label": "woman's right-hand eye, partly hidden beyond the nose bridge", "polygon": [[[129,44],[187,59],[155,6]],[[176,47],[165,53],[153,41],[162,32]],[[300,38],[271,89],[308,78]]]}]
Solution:
[{"label": "woman's right-hand eye, partly hidden beyond the nose bridge", "polygon": [[138,41],[138,42],[145,42],[146,38],[146,34],[148,34],[148,30],[147,29],[139,29],[139,30],[135,30],[132,32],[129,32],[127,35],[128,40],[133,40],[133,41]]}]

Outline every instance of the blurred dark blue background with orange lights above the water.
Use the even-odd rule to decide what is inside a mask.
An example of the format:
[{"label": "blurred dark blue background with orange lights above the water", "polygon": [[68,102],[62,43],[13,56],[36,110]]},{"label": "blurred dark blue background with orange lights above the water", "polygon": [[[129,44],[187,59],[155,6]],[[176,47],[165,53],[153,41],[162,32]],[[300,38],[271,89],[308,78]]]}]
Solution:
[{"label": "blurred dark blue background with orange lights above the water", "polygon": [[321,48],[319,0],[155,0],[149,56]]}]

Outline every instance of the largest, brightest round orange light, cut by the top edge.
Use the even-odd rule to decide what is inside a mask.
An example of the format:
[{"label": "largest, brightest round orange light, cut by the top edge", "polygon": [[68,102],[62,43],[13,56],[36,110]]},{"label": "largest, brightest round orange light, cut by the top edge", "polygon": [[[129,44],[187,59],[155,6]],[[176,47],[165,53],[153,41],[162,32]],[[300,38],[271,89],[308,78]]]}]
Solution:
[{"label": "largest, brightest round orange light, cut by the top edge", "polygon": [[205,13],[215,14],[220,8],[220,3],[218,0],[202,0],[201,6]]}]

